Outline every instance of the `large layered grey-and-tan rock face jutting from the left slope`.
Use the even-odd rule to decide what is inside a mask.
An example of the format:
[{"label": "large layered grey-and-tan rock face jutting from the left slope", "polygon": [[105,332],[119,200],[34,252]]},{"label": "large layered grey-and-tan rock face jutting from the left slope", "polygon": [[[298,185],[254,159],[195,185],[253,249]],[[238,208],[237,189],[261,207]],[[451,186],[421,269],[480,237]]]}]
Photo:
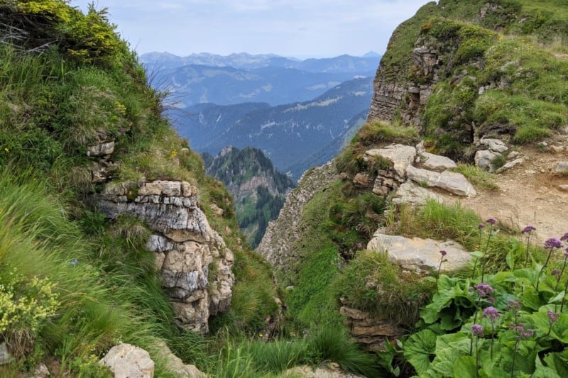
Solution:
[{"label": "large layered grey-and-tan rock face jutting from the left slope", "polygon": [[209,316],[231,303],[233,254],[197,206],[197,189],[174,181],[107,184],[98,200],[109,218],[124,214],[148,224],[153,234],[146,248],[155,254],[178,321],[207,332]]}]

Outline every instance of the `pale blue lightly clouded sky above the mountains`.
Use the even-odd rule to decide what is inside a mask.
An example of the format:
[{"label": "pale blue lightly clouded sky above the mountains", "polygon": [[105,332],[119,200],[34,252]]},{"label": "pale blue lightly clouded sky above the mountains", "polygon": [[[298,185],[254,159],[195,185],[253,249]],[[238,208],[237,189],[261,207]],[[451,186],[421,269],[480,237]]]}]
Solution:
[{"label": "pale blue lightly clouded sky above the mountains", "polygon": [[285,57],[383,54],[399,23],[427,0],[71,0],[107,8],[141,55],[274,53]]}]

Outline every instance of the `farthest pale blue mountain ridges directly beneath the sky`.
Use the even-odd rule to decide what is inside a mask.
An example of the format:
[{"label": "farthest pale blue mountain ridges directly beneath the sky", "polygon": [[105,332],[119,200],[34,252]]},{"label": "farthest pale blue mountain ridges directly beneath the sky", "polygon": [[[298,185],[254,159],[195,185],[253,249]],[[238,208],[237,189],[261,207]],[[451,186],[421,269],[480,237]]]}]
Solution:
[{"label": "farthest pale blue mountain ridges directly beneath the sky", "polygon": [[380,59],[341,55],[297,60],[246,53],[178,57],[167,52],[140,57],[153,86],[169,91],[170,104],[182,109],[202,103],[307,101],[354,77],[374,77]]}]

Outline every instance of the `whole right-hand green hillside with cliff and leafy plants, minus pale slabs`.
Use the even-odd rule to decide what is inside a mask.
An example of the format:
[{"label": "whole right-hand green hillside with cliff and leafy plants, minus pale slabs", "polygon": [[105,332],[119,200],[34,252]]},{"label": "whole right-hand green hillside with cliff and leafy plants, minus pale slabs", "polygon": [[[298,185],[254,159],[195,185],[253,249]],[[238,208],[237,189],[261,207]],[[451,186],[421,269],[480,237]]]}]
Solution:
[{"label": "whole right-hand green hillside with cliff and leafy plants, minus pale slabs", "polygon": [[[391,195],[371,191],[379,171],[392,167],[364,152],[424,140],[427,152],[461,162],[459,172],[478,188],[491,188],[493,176],[473,165],[481,138],[501,139],[520,152],[563,140],[559,135],[568,124],[567,17],[568,3],[560,0],[440,0],[398,26],[377,72],[368,122],[334,161],[337,181],[310,192],[301,217],[280,218],[273,239],[261,243],[266,247],[261,253],[276,265],[278,283],[291,288],[286,300],[295,326],[327,323],[342,329],[345,316],[339,310],[346,315],[349,307],[354,317],[375,319],[369,328],[400,327],[405,335],[398,341],[384,337],[378,348],[376,363],[385,376],[566,374],[568,340],[562,335],[568,313],[561,305],[566,242],[557,240],[560,244],[545,250],[542,245],[527,248],[520,230],[498,225],[495,233],[491,223],[459,204],[395,206]],[[306,193],[318,174],[329,172],[308,171],[295,191],[298,198],[310,195]],[[289,228],[290,235],[300,235],[280,248],[286,240],[273,235]],[[449,276],[410,274],[365,250],[377,229],[456,240],[478,251],[476,265],[472,261],[466,271]],[[274,256],[274,250],[283,255]],[[491,284],[494,296],[478,296],[481,283]],[[493,306],[501,318],[482,318],[481,311]],[[484,333],[472,331],[474,323]],[[356,324],[343,329],[361,339],[364,326]]]}]

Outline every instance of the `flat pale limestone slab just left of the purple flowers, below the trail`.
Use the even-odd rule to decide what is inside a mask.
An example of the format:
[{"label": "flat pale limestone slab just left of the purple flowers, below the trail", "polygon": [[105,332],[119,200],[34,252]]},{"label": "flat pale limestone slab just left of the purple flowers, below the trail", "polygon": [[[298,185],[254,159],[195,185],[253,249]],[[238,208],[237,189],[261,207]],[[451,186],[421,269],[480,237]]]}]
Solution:
[{"label": "flat pale limestone slab just left of the purple flowers, below the trail", "polygon": [[398,235],[375,233],[367,244],[368,250],[388,253],[389,259],[404,269],[416,272],[429,272],[438,269],[441,255],[445,250],[447,262],[442,264],[442,272],[454,272],[467,266],[471,259],[469,252],[453,240],[437,241],[422,238],[404,238]]}]

